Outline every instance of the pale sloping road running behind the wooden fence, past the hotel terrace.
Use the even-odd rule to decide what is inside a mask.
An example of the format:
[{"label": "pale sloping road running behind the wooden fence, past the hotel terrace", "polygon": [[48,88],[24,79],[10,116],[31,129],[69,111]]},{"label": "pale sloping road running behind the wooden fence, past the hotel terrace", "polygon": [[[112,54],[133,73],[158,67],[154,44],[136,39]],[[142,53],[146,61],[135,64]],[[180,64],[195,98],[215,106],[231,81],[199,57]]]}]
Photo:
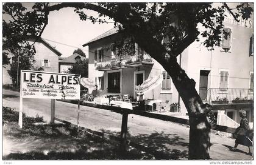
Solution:
[{"label": "pale sloping road running behind the wooden fence, past the hotel terrace", "polygon": [[[3,89],[3,106],[19,110],[20,93]],[[23,112],[28,116],[43,116],[50,120],[50,99],[23,99]],[[77,105],[56,101],[55,116],[71,123],[77,123]],[[121,132],[122,116],[119,113],[93,107],[80,106],[80,126],[113,135]],[[152,149],[168,152],[174,159],[188,157],[189,127],[182,124],[146,118],[138,115],[129,115],[128,140],[151,147]],[[247,147],[238,146],[237,152],[229,149],[235,140],[222,135],[211,133],[210,157],[213,160],[252,160],[246,155]]]}]

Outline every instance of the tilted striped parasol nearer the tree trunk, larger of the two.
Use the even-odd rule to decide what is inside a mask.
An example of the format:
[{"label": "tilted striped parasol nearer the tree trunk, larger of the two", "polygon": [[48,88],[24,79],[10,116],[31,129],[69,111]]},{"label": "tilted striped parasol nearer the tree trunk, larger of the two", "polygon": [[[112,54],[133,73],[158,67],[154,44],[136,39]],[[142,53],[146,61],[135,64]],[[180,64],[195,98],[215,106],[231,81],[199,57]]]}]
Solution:
[{"label": "tilted striped parasol nearer the tree trunk, larger of the two", "polygon": [[159,84],[161,84],[162,81],[163,81],[162,75],[155,76],[154,78],[150,77],[150,78],[146,79],[138,88],[137,94],[143,95],[148,90],[152,90],[155,87],[157,87]]}]

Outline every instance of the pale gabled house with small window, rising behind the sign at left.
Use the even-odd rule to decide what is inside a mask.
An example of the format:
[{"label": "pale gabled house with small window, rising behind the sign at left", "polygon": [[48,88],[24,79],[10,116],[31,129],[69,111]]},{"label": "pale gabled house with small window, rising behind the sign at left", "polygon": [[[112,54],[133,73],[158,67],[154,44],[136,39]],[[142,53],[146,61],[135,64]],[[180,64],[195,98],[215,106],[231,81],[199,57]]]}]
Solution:
[{"label": "pale gabled house with small window, rising behind the sign at left", "polygon": [[[29,42],[34,43],[35,39],[29,39]],[[44,72],[59,72],[59,56],[62,55],[57,49],[52,47],[44,39],[37,39],[35,42],[35,50],[37,51],[34,56],[32,64],[34,68],[43,67]],[[12,53],[9,53],[10,63],[12,64]],[[12,84],[12,78],[7,70],[10,70],[10,65],[2,67],[2,84]]]}]

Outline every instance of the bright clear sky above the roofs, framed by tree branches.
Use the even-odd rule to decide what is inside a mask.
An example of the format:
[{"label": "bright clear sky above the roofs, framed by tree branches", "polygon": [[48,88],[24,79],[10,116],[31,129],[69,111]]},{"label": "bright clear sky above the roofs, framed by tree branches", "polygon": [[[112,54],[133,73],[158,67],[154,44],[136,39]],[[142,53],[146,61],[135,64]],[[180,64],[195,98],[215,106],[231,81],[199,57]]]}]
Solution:
[{"label": "bright clear sky above the roofs, framed by tree branches", "polygon": [[[29,10],[34,3],[23,3]],[[52,5],[52,4],[50,4]],[[98,16],[97,12],[84,10],[88,16]],[[3,18],[8,18],[3,16]],[[83,44],[113,28],[111,24],[93,24],[90,20],[81,21],[74,8],[62,8],[59,11],[49,13],[48,25],[44,29],[41,38],[45,39],[55,49],[62,53],[62,57],[73,55],[77,48],[82,49],[88,58],[88,46]],[[110,20],[110,22],[113,22]],[[61,43],[61,44],[60,44]]]}]

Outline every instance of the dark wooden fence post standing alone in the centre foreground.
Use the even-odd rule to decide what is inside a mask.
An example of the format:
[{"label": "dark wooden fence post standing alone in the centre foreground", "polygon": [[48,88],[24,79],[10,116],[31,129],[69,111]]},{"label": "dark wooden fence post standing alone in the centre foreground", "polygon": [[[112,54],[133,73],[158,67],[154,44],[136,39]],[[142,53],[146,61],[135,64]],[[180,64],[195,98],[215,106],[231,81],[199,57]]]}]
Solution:
[{"label": "dark wooden fence post standing alone in the centre foreground", "polygon": [[121,141],[120,141],[120,149],[122,151],[126,150],[127,121],[128,121],[128,113],[123,111],[122,127],[121,127]]}]

